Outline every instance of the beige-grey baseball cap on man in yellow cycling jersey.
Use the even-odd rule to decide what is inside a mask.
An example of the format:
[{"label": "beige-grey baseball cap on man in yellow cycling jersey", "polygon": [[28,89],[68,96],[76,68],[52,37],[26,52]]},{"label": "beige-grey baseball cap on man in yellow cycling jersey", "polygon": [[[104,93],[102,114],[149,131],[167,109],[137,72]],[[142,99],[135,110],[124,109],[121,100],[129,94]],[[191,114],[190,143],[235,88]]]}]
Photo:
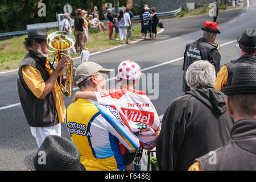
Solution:
[{"label": "beige-grey baseball cap on man in yellow cycling jersey", "polygon": [[113,69],[102,68],[101,65],[94,62],[90,62],[90,61],[84,62],[84,63],[81,63],[79,67],[76,68],[75,82],[76,84],[79,84],[81,81],[92,76],[94,73],[101,71],[108,74],[112,70]]}]

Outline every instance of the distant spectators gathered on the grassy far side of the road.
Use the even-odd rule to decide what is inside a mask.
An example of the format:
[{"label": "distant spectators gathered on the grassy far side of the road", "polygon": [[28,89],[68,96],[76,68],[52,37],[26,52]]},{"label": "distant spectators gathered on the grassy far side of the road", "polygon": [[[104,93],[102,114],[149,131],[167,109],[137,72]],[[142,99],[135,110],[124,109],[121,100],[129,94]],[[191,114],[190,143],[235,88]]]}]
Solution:
[{"label": "distant spectators gathered on the grassy far side of the road", "polygon": [[[130,9],[123,7],[119,13],[112,13],[112,9],[106,10],[106,21],[108,22],[108,29],[105,27],[104,23],[99,19],[99,11],[97,6],[91,14],[88,11],[77,9],[76,16],[74,18],[73,30],[75,34],[76,44],[75,47],[71,49],[73,54],[76,52],[81,52],[85,47],[85,44],[89,40],[90,30],[100,30],[100,32],[106,32],[108,30],[109,40],[126,40],[125,44],[130,44],[129,39],[132,38],[133,33],[133,18],[134,15],[131,13]],[[71,23],[69,23],[70,15],[65,13],[63,15],[63,20],[60,22],[59,26],[62,31],[72,32]],[[144,9],[140,15],[141,18],[141,33],[144,40],[154,40],[156,39],[156,27],[158,25],[159,19],[157,13],[155,12],[155,7],[151,10],[147,5],[144,5]],[[114,33],[115,30],[115,33]],[[114,38],[112,38],[114,33]],[[118,38],[119,34],[119,38]],[[68,53],[71,53],[68,51]]]}]

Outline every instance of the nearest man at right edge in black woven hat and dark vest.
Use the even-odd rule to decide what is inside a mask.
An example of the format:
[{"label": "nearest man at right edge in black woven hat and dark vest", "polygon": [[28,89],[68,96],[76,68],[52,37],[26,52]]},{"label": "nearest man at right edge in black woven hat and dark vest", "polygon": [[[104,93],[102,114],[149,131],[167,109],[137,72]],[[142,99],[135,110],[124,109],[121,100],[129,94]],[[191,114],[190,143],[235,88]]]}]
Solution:
[{"label": "nearest man at right edge in black woven hat and dark vest", "polygon": [[[234,117],[230,140],[224,146],[197,158],[189,171],[256,170],[256,65],[240,64],[232,83],[223,88],[226,106]],[[222,122],[225,122],[223,120]],[[211,162],[211,163],[209,163]],[[213,163],[214,162],[214,163]]]}]

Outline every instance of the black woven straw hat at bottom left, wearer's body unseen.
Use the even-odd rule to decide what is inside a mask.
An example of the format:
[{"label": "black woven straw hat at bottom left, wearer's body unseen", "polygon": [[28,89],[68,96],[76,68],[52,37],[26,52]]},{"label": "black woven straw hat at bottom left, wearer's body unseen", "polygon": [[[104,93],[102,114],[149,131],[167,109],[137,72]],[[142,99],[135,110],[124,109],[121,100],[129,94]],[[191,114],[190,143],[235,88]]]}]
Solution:
[{"label": "black woven straw hat at bottom left, wearer's body unseen", "polygon": [[24,162],[32,171],[86,171],[76,145],[57,135],[47,136],[39,150],[27,154]]}]

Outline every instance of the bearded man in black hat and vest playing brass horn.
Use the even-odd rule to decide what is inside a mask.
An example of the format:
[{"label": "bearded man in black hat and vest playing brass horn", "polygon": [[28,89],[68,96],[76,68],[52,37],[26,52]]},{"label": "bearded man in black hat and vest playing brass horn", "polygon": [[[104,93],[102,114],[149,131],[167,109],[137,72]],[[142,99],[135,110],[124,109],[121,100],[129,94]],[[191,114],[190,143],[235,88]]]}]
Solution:
[{"label": "bearded man in black hat and vest playing brass horn", "polygon": [[24,45],[28,50],[19,66],[17,87],[20,104],[38,147],[47,135],[61,135],[65,104],[57,78],[67,65],[62,56],[56,68],[47,58],[49,46],[45,28],[28,30]]}]

